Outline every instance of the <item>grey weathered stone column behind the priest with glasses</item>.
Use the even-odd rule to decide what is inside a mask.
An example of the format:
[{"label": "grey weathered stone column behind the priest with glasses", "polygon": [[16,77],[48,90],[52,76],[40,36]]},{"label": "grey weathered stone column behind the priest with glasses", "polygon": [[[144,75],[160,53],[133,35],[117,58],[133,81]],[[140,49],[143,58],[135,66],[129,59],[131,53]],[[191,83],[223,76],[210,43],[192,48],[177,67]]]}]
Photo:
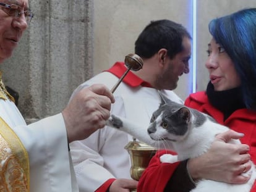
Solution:
[{"label": "grey weathered stone column behind the priest with glasses", "polygon": [[35,13],[11,59],[1,65],[28,123],[56,114],[93,75],[93,0],[30,0]]}]

